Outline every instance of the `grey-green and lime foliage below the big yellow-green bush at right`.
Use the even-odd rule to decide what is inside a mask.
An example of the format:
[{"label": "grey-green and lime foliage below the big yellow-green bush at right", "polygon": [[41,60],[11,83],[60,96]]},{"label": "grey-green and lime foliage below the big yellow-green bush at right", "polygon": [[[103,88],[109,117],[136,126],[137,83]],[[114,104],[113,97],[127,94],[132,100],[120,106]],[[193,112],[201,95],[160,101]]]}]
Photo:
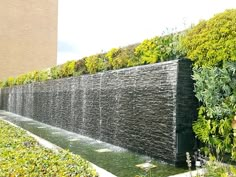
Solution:
[{"label": "grey-green and lime foliage below the big yellow-green bush at right", "polygon": [[193,130],[209,149],[207,153],[231,153],[235,158],[231,122],[236,112],[236,63],[195,68],[195,93],[202,103]]}]

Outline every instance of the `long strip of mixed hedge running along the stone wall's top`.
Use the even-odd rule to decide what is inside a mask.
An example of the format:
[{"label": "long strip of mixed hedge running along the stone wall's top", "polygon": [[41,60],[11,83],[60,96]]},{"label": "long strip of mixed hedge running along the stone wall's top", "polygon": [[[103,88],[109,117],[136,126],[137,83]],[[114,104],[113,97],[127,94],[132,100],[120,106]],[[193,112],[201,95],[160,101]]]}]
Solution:
[{"label": "long strip of mixed hedge running along the stone wall's top", "polygon": [[154,37],[140,44],[113,48],[107,53],[68,61],[47,70],[34,71],[15,78],[9,77],[0,81],[0,88],[176,59],[183,56],[178,50],[180,36],[181,34],[169,34]]}]

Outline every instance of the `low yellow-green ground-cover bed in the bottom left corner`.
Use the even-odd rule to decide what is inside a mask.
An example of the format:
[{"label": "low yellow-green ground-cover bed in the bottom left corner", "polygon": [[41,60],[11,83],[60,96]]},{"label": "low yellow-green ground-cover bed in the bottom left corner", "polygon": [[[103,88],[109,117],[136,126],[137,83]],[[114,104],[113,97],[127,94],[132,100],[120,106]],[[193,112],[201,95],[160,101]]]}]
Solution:
[{"label": "low yellow-green ground-cover bed in the bottom left corner", "polygon": [[3,121],[0,139],[0,176],[97,176],[78,155],[65,150],[54,153],[38,145],[25,131]]}]

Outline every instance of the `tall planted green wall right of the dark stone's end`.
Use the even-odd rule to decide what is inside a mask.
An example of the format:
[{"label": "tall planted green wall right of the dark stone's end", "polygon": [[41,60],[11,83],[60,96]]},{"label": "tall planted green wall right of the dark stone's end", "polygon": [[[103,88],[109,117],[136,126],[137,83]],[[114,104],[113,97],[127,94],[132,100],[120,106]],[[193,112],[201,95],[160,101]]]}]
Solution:
[{"label": "tall planted green wall right of the dark stone's end", "polygon": [[226,10],[189,29],[182,49],[194,62],[195,93],[200,107],[193,124],[202,149],[236,160],[232,121],[236,114],[236,10]]}]

